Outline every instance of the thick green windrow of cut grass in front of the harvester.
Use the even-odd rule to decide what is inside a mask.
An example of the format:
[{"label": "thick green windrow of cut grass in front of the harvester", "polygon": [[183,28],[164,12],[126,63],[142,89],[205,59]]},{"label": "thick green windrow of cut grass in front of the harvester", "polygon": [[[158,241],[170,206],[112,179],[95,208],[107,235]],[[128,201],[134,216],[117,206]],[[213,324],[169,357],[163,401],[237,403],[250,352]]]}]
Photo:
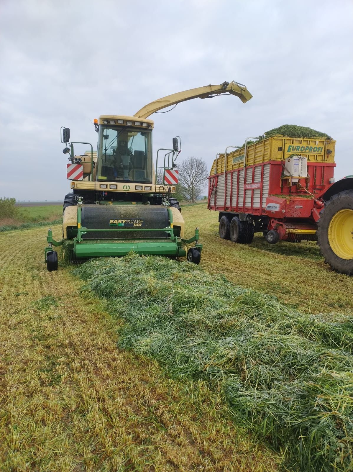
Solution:
[{"label": "thick green windrow of cut grass in front of the harvester", "polygon": [[352,469],[351,317],[304,315],[164,258],[97,259],[75,273],[126,321],[119,346],[208,381],[238,424],[286,451],[286,466]]}]

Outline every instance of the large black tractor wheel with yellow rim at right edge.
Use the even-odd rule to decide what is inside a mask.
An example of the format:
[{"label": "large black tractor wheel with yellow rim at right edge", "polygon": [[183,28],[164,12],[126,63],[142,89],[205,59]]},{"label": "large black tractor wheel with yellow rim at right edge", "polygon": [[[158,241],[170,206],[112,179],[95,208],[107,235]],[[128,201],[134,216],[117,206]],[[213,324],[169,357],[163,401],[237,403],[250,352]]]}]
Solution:
[{"label": "large black tractor wheel with yellow rim at right edge", "polygon": [[317,244],[325,263],[340,274],[353,275],[353,190],[333,195],[317,224]]}]

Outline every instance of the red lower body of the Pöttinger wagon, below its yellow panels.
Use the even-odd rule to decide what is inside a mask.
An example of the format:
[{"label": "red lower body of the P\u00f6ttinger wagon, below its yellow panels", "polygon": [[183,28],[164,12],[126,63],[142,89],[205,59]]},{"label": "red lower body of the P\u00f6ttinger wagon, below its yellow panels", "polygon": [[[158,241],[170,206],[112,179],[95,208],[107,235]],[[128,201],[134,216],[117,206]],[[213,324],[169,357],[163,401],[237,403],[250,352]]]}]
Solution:
[{"label": "red lower body of the P\u00f6ttinger wagon, below its yellow panels", "polygon": [[269,160],[210,175],[208,209],[276,230],[279,239],[315,239],[322,196],[333,185],[334,162],[307,162],[307,177],[283,175],[285,160]]}]

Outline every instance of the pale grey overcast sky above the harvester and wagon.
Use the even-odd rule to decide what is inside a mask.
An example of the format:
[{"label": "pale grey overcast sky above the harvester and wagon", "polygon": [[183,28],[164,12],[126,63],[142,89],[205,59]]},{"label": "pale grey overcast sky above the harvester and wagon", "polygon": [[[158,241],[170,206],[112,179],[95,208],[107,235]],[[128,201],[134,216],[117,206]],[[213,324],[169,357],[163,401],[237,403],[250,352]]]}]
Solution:
[{"label": "pale grey overcast sky above the harvester and wagon", "polygon": [[352,0],[0,0],[0,66],[1,196],[69,192],[60,126],[96,149],[93,118],[225,80],[252,100],[152,115],[154,155],[180,135],[180,159],[210,167],[226,146],[295,124],[336,139],[335,177],[353,174]]}]

